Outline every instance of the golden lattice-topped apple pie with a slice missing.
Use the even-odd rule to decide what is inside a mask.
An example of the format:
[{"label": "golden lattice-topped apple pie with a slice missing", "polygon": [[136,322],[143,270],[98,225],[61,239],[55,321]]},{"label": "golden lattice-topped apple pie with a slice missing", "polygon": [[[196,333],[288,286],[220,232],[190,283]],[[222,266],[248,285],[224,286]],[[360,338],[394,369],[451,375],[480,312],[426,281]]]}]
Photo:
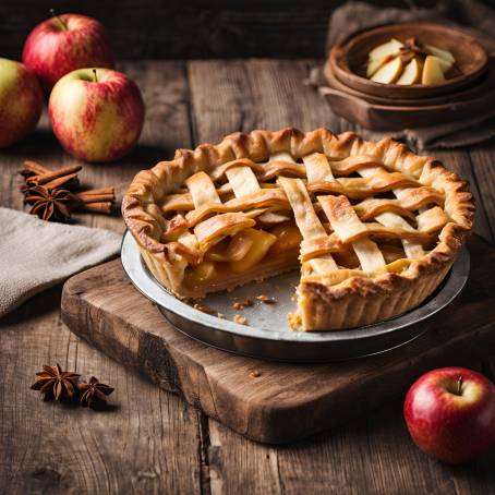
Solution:
[{"label": "golden lattice-topped apple pie with a slice missing", "polygon": [[301,267],[303,330],[405,313],[442,282],[471,231],[467,183],[391,138],[295,129],[178,149],[132,181],[123,217],[180,299]]}]

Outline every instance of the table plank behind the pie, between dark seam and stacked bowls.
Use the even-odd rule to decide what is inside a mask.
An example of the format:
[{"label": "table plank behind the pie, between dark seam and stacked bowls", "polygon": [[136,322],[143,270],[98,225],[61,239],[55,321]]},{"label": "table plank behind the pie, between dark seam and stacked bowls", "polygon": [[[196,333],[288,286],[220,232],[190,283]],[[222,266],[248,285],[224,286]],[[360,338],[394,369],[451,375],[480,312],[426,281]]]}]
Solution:
[{"label": "table plank behind the pie, between dark seam and stacked bowls", "polygon": [[303,131],[328,126],[340,132],[317,93],[303,84],[317,62],[246,60],[188,62],[194,141],[218,142],[232,130]]}]

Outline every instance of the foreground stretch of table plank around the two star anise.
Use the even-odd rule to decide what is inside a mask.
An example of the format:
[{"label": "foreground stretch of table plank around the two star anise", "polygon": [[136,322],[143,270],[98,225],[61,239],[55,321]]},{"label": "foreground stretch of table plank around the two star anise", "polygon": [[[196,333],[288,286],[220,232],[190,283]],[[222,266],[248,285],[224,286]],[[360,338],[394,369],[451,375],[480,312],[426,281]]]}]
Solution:
[{"label": "foreground stretch of table plank around the two star anise", "polygon": [[[48,291],[0,325],[2,492],[198,492],[197,412],[77,339],[60,321],[59,298]],[[116,409],[43,403],[29,386],[56,362],[116,387]]]}]

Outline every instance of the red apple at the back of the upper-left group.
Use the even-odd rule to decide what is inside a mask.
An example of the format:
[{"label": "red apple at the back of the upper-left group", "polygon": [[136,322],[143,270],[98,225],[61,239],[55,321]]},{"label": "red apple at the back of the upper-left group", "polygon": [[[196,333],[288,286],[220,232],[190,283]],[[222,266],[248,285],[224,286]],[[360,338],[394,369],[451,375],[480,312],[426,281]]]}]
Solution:
[{"label": "red apple at the back of the upper-left group", "polygon": [[62,14],[47,19],[29,33],[22,60],[48,95],[60,77],[76,69],[113,68],[113,51],[101,23],[86,15]]}]

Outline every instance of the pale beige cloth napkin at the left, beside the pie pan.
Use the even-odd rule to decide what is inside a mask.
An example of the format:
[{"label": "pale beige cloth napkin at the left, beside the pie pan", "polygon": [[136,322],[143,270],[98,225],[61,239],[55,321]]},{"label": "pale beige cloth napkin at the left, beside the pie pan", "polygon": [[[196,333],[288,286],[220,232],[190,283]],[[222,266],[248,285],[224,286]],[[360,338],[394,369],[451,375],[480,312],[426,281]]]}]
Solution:
[{"label": "pale beige cloth napkin at the left, beside the pie pan", "polygon": [[0,317],[37,292],[116,255],[121,236],[0,208]]}]

